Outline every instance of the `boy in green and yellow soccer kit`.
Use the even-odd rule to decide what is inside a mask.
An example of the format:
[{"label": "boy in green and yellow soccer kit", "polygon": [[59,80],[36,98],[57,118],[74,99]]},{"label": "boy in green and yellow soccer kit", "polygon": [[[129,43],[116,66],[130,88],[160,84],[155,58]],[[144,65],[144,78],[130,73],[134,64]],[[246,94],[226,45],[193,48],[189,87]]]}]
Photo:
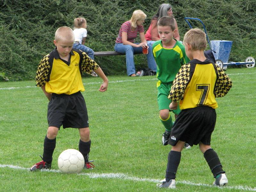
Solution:
[{"label": "boy in green and yellow soccer kit", "polygon": [[[159,19],[157,28],[161,39],[153,44],[153,55],[157,64],[156,77],[158,78],[157,102],[159,117],[165,127],[162,143],[167,145],[173,125],[169,110],[169,105],[172,101],[168,99],[168,95],[176,74],[189,59],[186,56],[184,45],[173,38],[173,34],[177,29],[175,28],[175,20],[172,17],[164,16]],[[180,113],[180,108],[178,107],[172,112],[176,118]]]}]

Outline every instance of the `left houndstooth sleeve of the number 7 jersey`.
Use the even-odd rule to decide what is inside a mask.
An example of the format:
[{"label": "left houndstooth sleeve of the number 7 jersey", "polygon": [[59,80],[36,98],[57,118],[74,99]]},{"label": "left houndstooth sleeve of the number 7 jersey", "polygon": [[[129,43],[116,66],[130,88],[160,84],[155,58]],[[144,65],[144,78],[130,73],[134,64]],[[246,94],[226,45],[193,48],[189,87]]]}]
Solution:
[{"label": "left houndstooth sleeve of the number 7 jersey", "polygon": [[177,73],[168,99],[173,102],[179,102],[183,100],[184,92],[189,82],[190,63],[182,65],[179,72]]}]

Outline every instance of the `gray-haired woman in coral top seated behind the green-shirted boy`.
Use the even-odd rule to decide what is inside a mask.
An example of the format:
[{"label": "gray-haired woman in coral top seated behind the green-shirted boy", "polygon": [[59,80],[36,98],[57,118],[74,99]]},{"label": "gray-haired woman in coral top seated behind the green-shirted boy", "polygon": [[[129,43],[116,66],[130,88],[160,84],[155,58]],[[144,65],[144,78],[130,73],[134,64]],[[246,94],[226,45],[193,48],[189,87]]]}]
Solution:
[{"label": "gray-haired woman in coral top seated behind the green-shirted boy", "polygon": [[[156,41],[160,40],[157,30],[157,21],[163,16],[172,17],[172,6],[170,4],[161,4],[158,8],[156,15],[153,16],[151,24],[145,34],[145,38],[149,45],[153,45]],[[177,31],[173,34],[173,38],[180,41],[180,34],[176,20],[175,26]]]}]

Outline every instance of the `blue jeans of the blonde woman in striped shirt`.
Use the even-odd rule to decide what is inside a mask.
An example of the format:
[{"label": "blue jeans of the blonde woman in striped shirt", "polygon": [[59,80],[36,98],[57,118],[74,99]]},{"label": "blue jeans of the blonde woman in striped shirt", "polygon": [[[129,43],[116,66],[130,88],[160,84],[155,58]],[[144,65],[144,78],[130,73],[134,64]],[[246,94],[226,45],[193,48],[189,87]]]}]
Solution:
[{"label": "blue jeans of the blonde woman in striped shirt", "polygon": [[[135,43],[139,44],[139,43]],[[134,58],[133,53],[142,53],[142,47],[133,47],[132,45],[124,45],[122,43],[116,43],[114,47],[116,52],[119,53],[125,53],[126,56],[126,70],[127,75],[130,76],[132,74],[135,74],[135,66],[134,66]],[[148,68],[152,69],[153,71],[156,71],[156,61],[153,56],[152,46],[148,45]]]}]

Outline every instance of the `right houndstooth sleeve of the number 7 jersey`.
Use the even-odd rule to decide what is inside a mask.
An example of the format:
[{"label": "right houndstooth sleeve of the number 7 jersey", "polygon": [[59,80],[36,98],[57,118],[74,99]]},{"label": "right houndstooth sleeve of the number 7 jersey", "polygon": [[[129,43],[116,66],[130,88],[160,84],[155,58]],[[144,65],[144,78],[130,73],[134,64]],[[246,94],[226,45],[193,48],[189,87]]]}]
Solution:
[{"label": "right houndstooth sleeve of the number 7 jersey", "polygon": [[216,67],[217,67],[219,78],[217,79],[214,95],[215,97],[223,97],[231,89],[232,81],[218,65],[216,65]]}]

